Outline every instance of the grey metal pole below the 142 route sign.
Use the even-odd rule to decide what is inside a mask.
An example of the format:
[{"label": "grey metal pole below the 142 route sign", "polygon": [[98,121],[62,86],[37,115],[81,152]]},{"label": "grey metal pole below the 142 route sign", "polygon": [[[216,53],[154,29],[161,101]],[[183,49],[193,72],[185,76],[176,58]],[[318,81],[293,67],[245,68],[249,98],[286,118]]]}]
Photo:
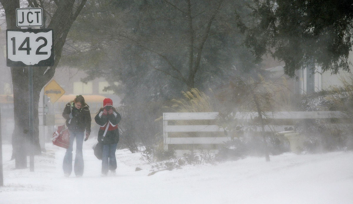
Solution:
[{"label": "grey metal pole below the 142 route sign", "polygon": [[29,90],[29,137],[30,137],[30,156],[29,170],[34,171],[34,134],[33,134],[33,68],[28,67],[28,90]]}]

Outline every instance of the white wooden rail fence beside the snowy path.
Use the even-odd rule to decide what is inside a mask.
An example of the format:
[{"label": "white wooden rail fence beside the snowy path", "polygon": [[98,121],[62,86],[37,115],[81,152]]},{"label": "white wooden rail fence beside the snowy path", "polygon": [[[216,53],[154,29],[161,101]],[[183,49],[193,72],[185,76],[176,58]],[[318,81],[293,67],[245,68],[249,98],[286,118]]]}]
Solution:
[{"label": "white wooden rail fence beside the snowy path", "polygon": [[[257,112],[241,113],[237,112],[234,114],[234,118],[242,120],[244,123],[255,119],[258,116]],[[268,112],[263,115],[264,119],[333,119],[343,118],[345,115],[341,111],[285,111],[285,112]],[[216,125],[216,120],[219,118],[218,112],[209,113],[163,113],[163,137],[164,137],[164,150],[168,150],[169,146],[175,151],[190,149],[178,149],[178,145],[190,145],[197,147],[197,145],[209,145],[213,146],[213,149],[217,149],[216,144],[222,144],[225,141],[231,140],[229,136],[226,136],[224,129]],[[175,121],[199,121],[199,120],[210,120],[213,121],[213,125],[174,125]],[[168,124],[168,121],[174,121],[173,124]],[[191,123],[191,122],[190,122]],[[265,125],[265,131],[267,132],[283,132],[286,127],[293,127],[294,125]],[[260,131],[260,126],[245,125],[243,128],[252,128],[254,132]],[[178,134],[173,133],[185,133],[185,132],[218,132],[214,136],[207,137],[180,137]],[[192,148],[195,150],[195,148]],[[196,148],[197,149],[197,148]],[[212,149],[212,148],[210,148]]]}]

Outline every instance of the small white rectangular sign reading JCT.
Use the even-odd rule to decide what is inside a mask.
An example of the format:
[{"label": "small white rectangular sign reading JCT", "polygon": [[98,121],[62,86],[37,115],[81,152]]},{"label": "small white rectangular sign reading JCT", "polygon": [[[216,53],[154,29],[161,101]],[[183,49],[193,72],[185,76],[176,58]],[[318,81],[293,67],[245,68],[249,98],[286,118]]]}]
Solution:
[{"label": "small white rectangular sign reading JCT", "polygon": [[16,8],[17,27],[43,26],[42,8]]}]

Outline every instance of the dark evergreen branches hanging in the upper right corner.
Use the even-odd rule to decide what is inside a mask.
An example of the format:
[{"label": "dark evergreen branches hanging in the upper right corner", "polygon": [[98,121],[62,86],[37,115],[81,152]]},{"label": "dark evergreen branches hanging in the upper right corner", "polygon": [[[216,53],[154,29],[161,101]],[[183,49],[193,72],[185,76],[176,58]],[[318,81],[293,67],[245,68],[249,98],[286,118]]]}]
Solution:
[{"label": "dark evergreen branches hanging in the upper right corner", "polygon": [[[247,24],[247,46],[260,60],[270,53],[285,62],[284,71],[307,65],[337,74],[349,70],[353,4],[350,0],[255,0],[253,24]],[[316,70],[312,70],[315,72]]]}]

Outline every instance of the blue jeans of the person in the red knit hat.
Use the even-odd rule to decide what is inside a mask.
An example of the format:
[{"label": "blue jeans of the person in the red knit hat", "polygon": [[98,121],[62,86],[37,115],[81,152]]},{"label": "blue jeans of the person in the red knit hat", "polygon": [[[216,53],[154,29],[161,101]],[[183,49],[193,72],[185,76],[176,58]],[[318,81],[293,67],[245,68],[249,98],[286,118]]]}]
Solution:
[{"label": "blue jeans of the person in the red knit hat", "polygon": [[116,143],[110,145],[103,145],[102,174],[107,174],[108,170],[114,171],[116,169],[116,145]]}]

